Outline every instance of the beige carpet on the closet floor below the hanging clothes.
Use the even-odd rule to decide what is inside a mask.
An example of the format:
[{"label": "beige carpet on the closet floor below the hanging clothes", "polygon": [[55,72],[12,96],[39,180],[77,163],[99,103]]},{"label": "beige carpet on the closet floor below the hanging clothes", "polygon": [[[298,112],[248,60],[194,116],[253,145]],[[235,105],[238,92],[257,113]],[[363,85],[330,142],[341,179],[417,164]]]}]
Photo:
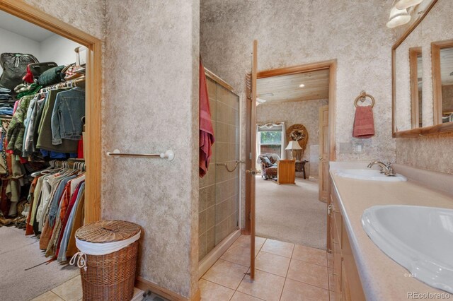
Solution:
[{"label": "beige carpet on the closet floor below the hanging clothes", "polygon": [[1,227],[0,300],[31,300],[79,273],[79,268],[57,261],[42,264],[47,260],[36,237],[16,227]]}]

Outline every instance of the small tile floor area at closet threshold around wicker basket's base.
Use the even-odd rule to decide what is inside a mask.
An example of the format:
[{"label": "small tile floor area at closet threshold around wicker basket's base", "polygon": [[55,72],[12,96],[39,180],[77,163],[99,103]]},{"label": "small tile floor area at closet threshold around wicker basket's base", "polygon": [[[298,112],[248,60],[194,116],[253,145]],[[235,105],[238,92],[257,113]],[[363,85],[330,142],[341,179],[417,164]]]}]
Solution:
[{"label": "small tile floor area at closet threshold around wicker basket's base", "polygon": [[[132,301],[143,299],[143,290],[134,288]],[[52,290],[35,297],[32,301],[79,301],[82,300],[82,283],[80,275],[53,288]]]}]

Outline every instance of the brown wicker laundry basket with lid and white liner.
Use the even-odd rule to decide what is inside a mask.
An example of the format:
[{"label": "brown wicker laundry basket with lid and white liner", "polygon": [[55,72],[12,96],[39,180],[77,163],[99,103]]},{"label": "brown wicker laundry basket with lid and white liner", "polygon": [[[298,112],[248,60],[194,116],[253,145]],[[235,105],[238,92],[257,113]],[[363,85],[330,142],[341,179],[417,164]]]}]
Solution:
[{"label": "brown wicker laundry basket with lid and white liner", "polygon": [[139,236],[139,225],[123,220],[100,220],[76,231],[84,300],[132,299]]}]

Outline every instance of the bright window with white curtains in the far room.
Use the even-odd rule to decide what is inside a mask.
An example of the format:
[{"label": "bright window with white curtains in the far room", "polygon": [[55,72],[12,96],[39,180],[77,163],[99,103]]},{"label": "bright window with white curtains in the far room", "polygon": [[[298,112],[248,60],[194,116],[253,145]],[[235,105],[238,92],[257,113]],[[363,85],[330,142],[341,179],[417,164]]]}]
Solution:
[{"label": "bright window with white curtains in the far room", "polygon": [[262,153],[275,153],[280,158],[285,154],[283,131],[285,124],[257,124],[257,155]]}]

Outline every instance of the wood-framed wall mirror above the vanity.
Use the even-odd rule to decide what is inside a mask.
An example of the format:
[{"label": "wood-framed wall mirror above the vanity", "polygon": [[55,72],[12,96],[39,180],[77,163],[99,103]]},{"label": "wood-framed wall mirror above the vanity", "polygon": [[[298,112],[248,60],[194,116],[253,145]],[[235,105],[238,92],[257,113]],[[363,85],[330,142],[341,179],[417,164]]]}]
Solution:
[{"label": "wood-framed wall mirror above the vanity", "polygon": [[392,47],[394,137],[453,131],[452,13],[451,0],[423,1]]}]

